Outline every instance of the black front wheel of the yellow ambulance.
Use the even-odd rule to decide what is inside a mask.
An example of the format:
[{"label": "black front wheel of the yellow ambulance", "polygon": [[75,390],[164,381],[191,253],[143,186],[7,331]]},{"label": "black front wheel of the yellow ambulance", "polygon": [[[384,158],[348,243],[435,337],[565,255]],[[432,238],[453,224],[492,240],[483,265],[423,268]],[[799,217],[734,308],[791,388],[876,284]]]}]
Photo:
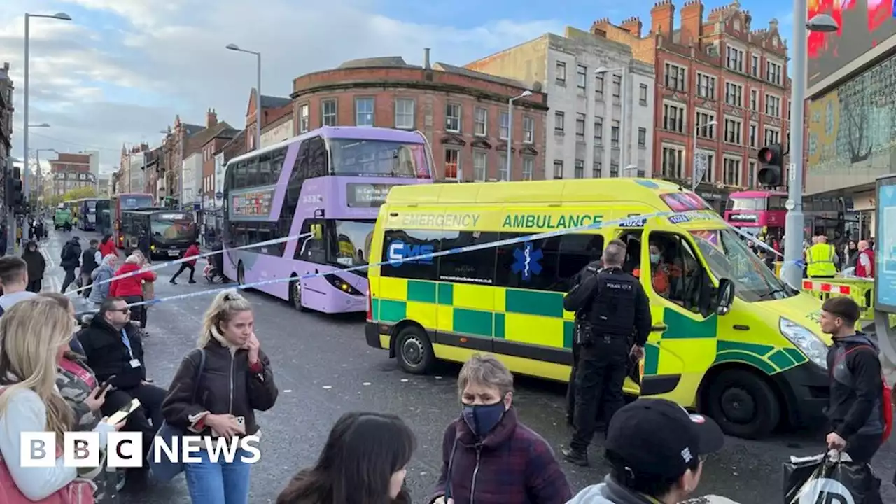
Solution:
[{"label": "black front wheel of the yellow ambulance", "polygon": [[728,369],[713,378],[706,410],[726,434],[743,439],[767,437],[781,415],[768,382],[744,369]]}]

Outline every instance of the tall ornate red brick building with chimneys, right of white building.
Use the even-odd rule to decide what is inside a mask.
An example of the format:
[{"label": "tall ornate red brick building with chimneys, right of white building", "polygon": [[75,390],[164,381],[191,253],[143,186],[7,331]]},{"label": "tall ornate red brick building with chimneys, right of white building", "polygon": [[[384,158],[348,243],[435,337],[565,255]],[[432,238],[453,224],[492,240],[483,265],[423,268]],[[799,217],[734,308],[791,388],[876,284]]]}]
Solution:
[{"label": "tall ornate red brick building with chimneys, right of white building", "polygon": [[704,19],[700,0],[687,0],[679,20],[676,28],[675,5],[661,0],[645,37],[638,18],[619,26],[600,19],[591,33],[631,46],[635,58],[654,65],[654,176],[690,185],[695,150],[708,155],[698,192],[720,210],[728,193],[756,185],[758,150],[787,143],[788,48],[776,20],[754,29],[737,1]]}]

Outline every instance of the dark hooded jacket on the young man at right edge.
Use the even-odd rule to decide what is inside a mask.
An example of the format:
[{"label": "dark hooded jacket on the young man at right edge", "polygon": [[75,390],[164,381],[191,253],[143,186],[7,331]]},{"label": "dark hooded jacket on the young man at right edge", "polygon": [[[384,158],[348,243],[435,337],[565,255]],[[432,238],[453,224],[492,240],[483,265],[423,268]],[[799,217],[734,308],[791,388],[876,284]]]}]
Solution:
[{"label": "dark hooded jacket on the young man at right edge", "polygon": [[862,333],[834,338],[828,349],[831,402],[828,419],[843,439],[883,435],[883,379],[880,349]]}]

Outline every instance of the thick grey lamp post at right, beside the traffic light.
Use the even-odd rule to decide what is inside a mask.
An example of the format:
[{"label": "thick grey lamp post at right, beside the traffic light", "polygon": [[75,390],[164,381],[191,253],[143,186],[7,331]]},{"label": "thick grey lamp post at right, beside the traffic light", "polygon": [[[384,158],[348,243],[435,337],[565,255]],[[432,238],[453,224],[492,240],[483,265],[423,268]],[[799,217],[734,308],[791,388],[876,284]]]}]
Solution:
[{"label": "thick grey lamp post at right, beside the traffic light", "polygon": [[795,289],[803,281],[803,268],[799,263],[803,256],[803,125],[806,114],[806,36],[807,31],[831,32],[838,26],[831,16],[816,14],[806,21],[806,0],[793,1],[797,22],[793,23],[793,65],[794,74],[790,81],[790,107],[797,107],[797,113],[790,114],[790,165],[788,166],[787,217],[784,221],[784,265],[781,278]]}]

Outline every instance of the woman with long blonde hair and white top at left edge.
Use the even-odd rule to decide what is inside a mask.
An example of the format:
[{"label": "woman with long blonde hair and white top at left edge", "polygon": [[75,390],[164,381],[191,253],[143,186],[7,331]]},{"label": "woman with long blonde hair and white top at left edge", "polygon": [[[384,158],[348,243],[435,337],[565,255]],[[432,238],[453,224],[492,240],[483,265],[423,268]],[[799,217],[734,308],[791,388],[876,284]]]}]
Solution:
[{"label": "woman with long blonde hair and white top at left edge", "polygon": [[[56,374],[73,328],[65,308],[45,297],[22,300],[0,317],[0,502],[93,502],[93,483],[80,479],[61,456],[74,419]],[[120,426],[99,422],[93,430],[102,447],[106,434]],[[35,431],[56,434],[55,465],[22,466],[22,433]]]}]

